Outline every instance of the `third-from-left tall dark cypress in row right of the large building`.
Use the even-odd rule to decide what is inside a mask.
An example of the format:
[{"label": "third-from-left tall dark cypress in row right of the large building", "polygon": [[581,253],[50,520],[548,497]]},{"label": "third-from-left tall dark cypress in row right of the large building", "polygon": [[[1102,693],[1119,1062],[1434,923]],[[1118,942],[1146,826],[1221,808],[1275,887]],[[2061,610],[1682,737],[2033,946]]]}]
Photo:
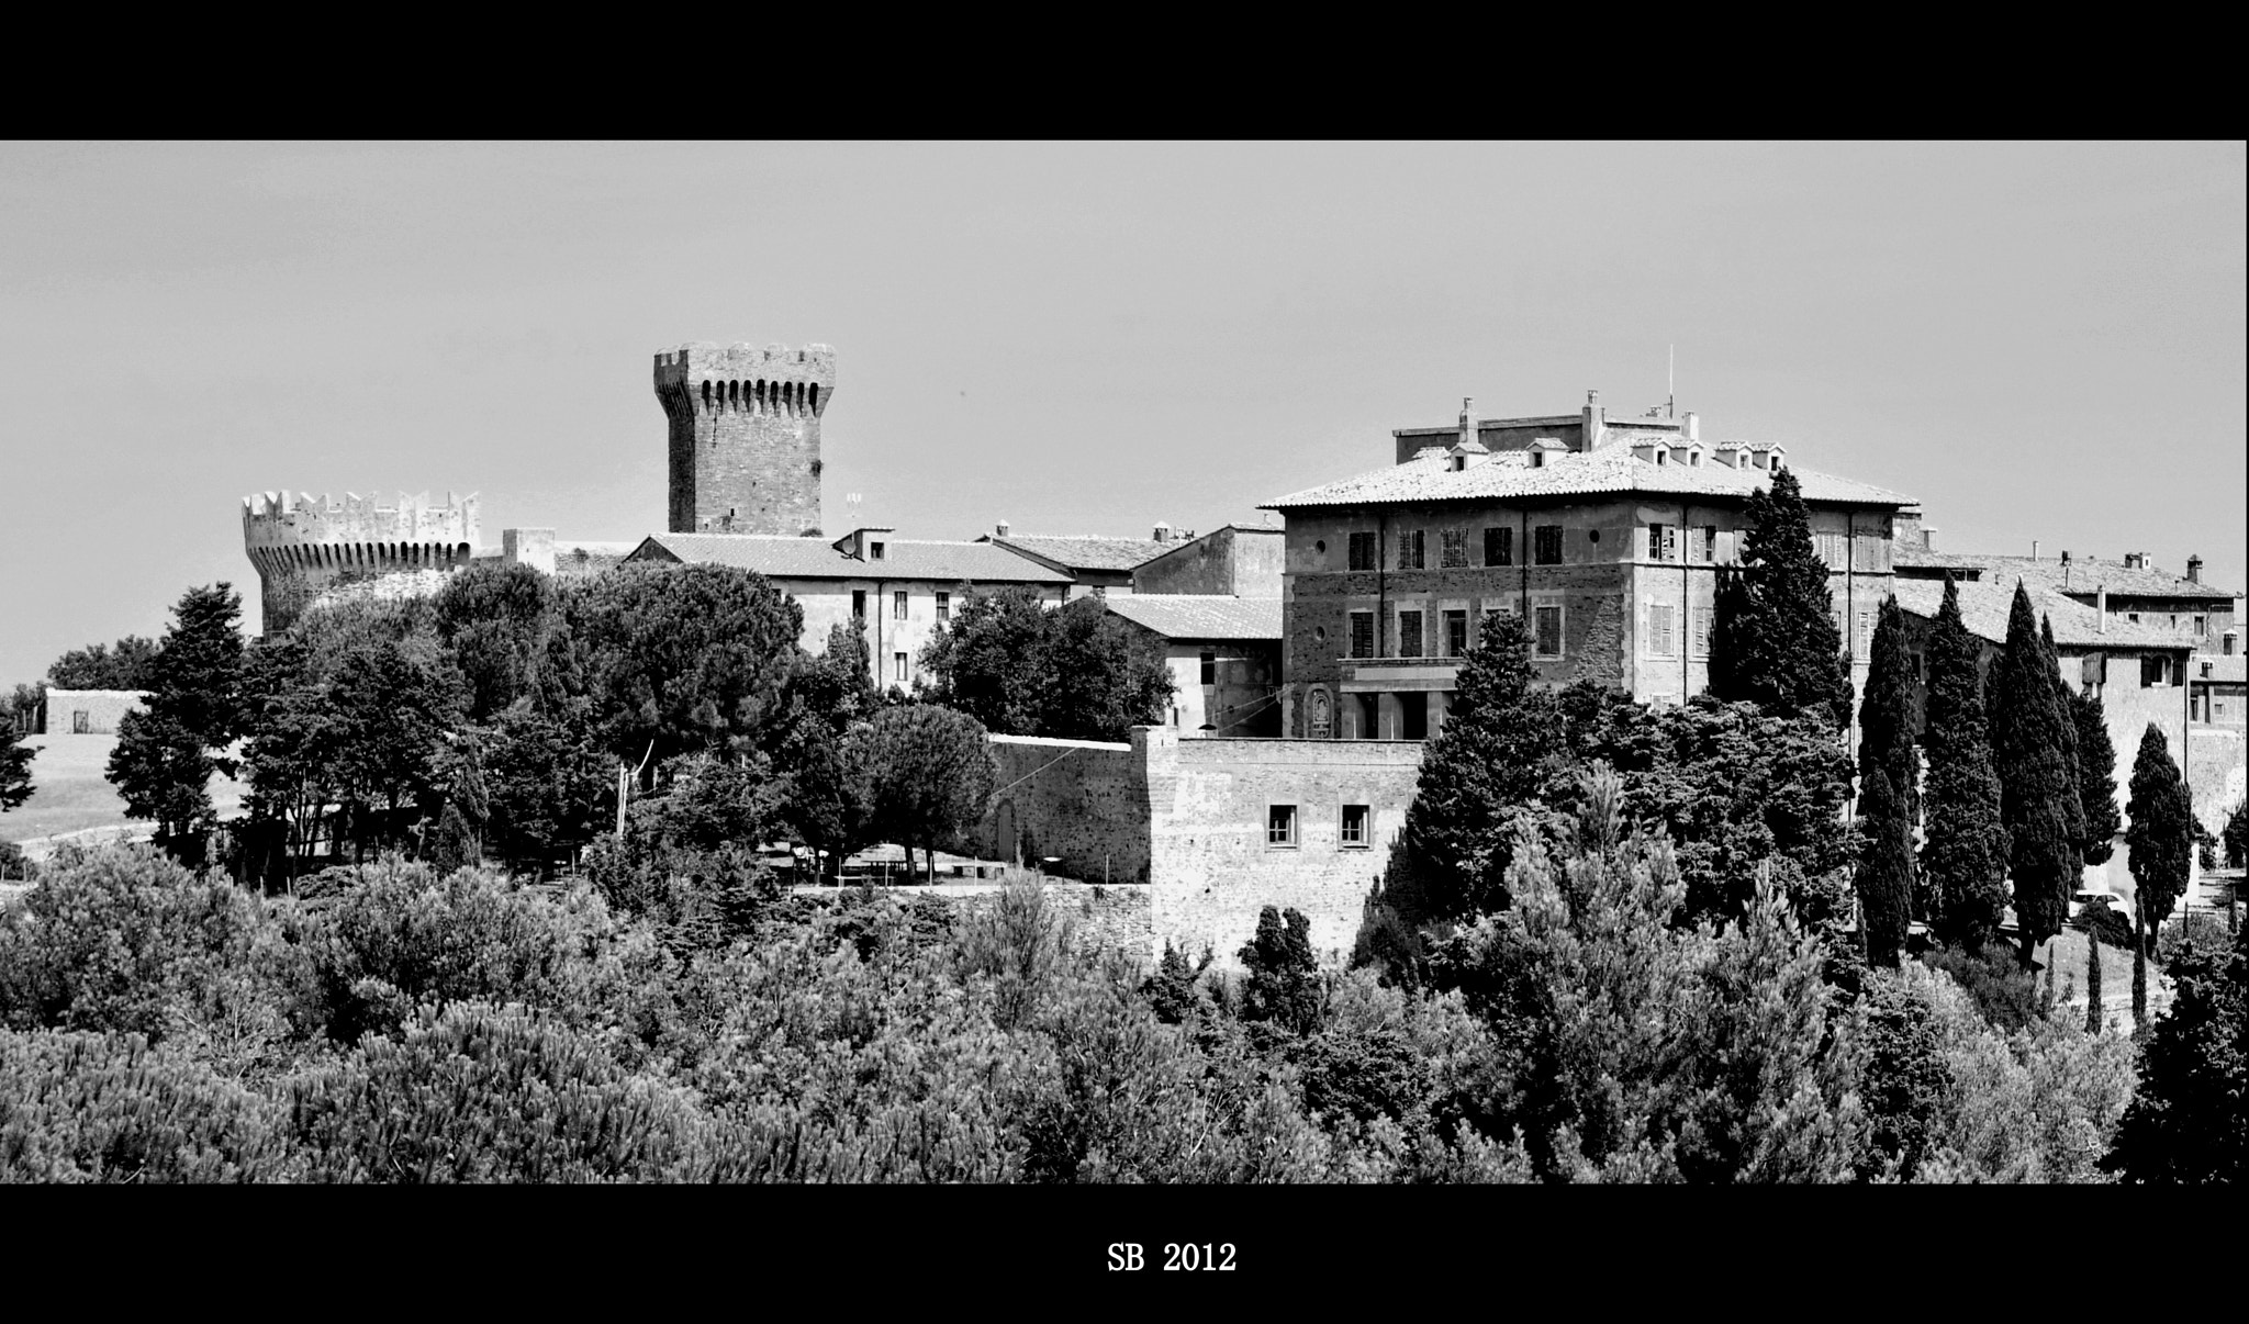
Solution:
[{"label": "third-from-left tall dark cypress in row right of the large building", "polygon": [[2085,865],[2078,841],[2085,814],[2069,758],[2076,726],[2060,706],[2053,659],[2038,636],[2031,596],[2015,580],[2006,618],[2006,647],[1990,677],[1990,751],[1999,773],[1999,820],[2008,836],[2008,874],[2015,883],[2015,928],[2022,967],[2035,946],[2062,931],[2069,895]]}]

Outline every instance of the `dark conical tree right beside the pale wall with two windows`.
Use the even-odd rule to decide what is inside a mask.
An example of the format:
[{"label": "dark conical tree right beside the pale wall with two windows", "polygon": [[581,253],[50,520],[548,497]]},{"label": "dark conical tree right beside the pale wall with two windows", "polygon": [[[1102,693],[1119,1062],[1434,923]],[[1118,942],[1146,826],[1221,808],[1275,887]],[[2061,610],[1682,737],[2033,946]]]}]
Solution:
[{"label": "dark conical tree right beside the pale wall with two windows", "polygon": [[1460,919],[1505,899],[1509,820],[1538,802],[1561,755],[1561,717],[1534,688],[1532,641],[1516,614],[1484,616],[1444,728],[1421,755],[1406,811],[1406,919]]}]

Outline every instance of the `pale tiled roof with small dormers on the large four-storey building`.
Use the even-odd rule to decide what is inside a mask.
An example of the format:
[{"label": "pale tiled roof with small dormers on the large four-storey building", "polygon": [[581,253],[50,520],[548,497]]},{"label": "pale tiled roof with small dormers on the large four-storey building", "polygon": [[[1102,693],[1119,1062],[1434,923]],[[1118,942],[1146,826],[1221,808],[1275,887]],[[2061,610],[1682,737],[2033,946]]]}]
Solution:
[{"label": "pale tiled roof with small dormers on the large four-storey building", "polygon": [[[1500,452],[1480,465],[1455,470],[1444,454],[1291,492],[1266,501],[1264,510],[1307,506],[1379,506],[1392,501],[1516,501],[1538,497],[1662,495],[1747,497],[1770,481],[1765,470],[1720,463],[1673,465],[1633,456],[1633,438],[1617,438],[1595,452],[1550,452],[1545,465],[1529,468],[1525,452]],[[1903,492],[1795,470],[1806,501],[1851,501],[1862,506],[1912,506]]]}]

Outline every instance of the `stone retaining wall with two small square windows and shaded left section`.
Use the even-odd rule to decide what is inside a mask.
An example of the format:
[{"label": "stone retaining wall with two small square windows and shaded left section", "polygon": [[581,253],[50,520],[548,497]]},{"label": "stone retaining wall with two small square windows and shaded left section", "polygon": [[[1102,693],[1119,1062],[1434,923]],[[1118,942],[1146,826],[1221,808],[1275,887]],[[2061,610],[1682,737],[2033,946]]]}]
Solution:
[{"label": "stone retaining wall with two small square windows and shaded left section", "polygon": [[1264,906],[1302,910],[1325,964],[1349,960],[1421,771],[1419,742],[1167,726],[1136,726],[1127,744],[994,735],[992,755],[981,838],[994,859],[1145,886],[1151,951],[1208,946],[1228,969]]}]

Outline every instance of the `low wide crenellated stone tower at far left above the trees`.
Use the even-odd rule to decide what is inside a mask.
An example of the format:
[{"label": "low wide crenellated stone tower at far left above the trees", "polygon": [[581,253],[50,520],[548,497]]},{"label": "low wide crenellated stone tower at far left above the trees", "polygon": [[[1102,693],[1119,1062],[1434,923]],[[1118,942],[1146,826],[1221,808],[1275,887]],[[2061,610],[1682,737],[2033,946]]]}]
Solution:
[{"label": "low wide crenellated stone tower at far left above the trees", "polygon": [[396,501],[299,492],[243,497],[243,548],[259,566],[265,634],[335,598],[434,593],[477,551],[477,495]]}]

